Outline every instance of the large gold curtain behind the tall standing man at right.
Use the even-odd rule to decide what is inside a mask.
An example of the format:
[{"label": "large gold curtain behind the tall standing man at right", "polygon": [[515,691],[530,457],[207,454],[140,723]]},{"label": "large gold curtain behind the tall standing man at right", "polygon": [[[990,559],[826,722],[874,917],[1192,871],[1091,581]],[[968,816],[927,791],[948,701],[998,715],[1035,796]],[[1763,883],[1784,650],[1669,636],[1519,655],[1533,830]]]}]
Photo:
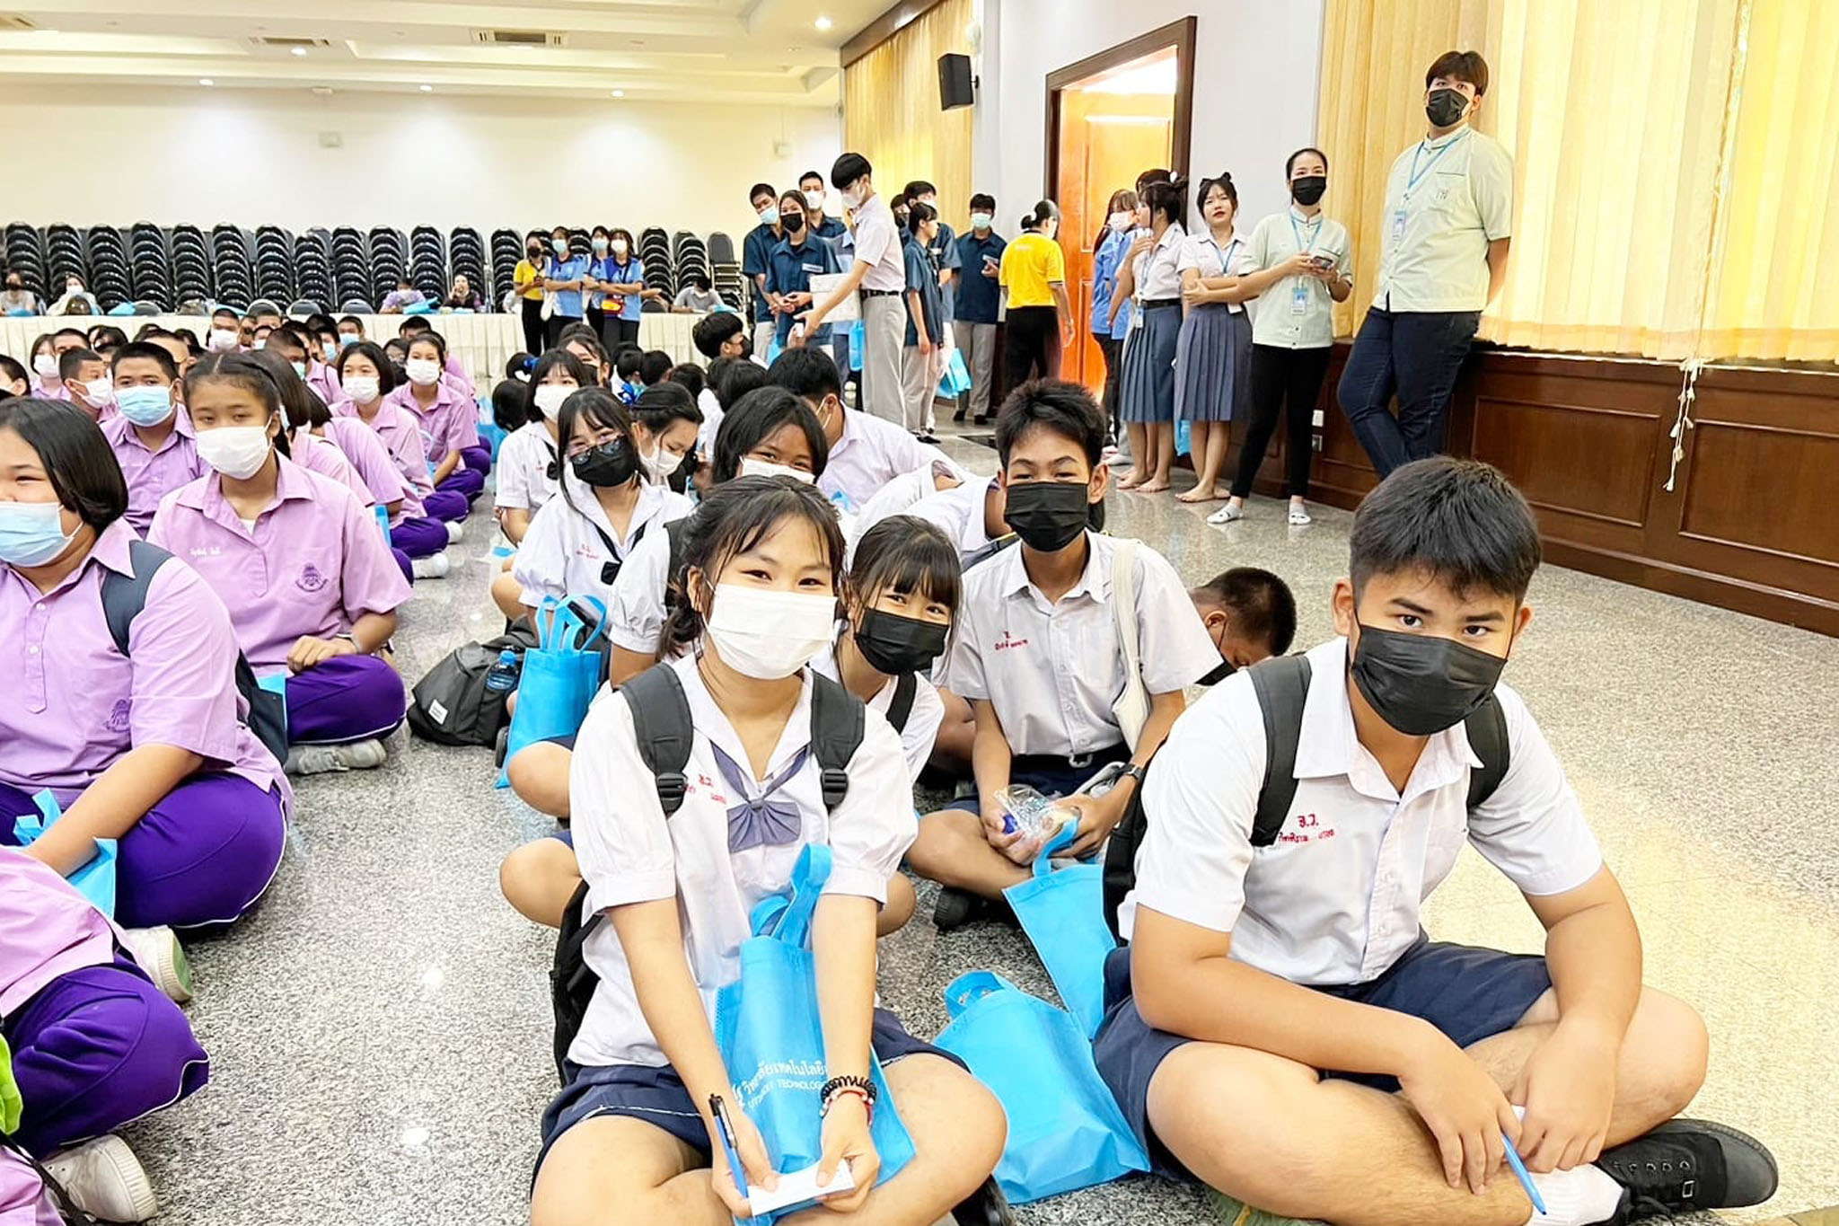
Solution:
[{"label": "large gold curtain behind the tall standing man at right", "polygon": [[[1322,147],[1357,285],[1379,267],[1392,158],[1423,70],[1475,48],[1477,127],[1513,154],[1501,344],[1657,358],[1839,357],[1839,4],[1328,0]],[[1832,283],[1832,281],[1828,281]],[[1370,296],[1355,289],[1337,331]]]}]

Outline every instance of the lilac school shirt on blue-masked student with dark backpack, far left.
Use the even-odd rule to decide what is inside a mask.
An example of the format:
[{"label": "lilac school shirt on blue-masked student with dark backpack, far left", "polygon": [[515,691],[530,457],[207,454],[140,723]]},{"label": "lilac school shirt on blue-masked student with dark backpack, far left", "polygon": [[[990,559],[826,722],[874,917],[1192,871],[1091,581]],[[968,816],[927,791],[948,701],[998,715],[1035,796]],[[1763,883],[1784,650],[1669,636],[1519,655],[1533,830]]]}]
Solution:
[{"label": "lilac school shirt on blue-masked student with dark backpack, far left", "polygon": [[[158,515],[154,515],[158,522]],[[375,535],[375,529],[371,529]],[[292,803],[281,763],[243,717],[235,629],[217,594],[175,559],[147,588],[129,654],[103,616],[105,572],[132,575],[134,529],[116,520],[50,592],[0,566],[0,783],[51,789],[66,809],[138,744],[173,744]]]}]

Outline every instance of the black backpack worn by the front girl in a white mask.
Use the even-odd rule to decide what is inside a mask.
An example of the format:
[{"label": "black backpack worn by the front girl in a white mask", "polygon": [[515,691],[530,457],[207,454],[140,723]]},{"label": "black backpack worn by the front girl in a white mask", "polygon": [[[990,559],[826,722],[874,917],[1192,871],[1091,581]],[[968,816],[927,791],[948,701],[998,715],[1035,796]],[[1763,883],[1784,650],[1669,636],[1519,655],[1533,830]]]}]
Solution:
[{"label": "black backpack worn by the front girl in a white mask", "polygon": [[[680,522],[680,520],[679,520]],[[657,664],[618,689],[627,706],[633,708],[633,732],[638,737],[638,755],[651,768],[653,785],[658,790],[658,803],[664,807],[666,822],[684,803],[684,790],[690,781],[684,766],[690,765],[690,746],[695,741],[695,726],[690,722],[690,698],[684,695],[682,680],[669,664]],[[818,673],[811,675],[811,757],[822,772],[824,809],[837,811],[837,805],[850,794],[850,759],[862,744],[862,700],[837,682]],[[581,906],[587,902],[587,882],[576,890],[563,912],[563,928],[555,936],[555,965],[550,969],[550,1004],[555,1011],[555,1072],[568,1083],[568,1048],[581,1029],[587,1005],[594,1000],[594,987],[600,976],[587,965],[583,945],[588,936],[605,921],[594,914],[581,919]]]}]

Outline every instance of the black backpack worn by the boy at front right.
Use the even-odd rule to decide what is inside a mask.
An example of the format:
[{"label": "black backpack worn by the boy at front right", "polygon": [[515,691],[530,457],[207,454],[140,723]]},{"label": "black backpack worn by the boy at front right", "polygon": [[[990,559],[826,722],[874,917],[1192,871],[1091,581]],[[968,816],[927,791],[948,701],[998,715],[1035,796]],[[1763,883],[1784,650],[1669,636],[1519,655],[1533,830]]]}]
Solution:
[{"label": "black backpack worn by the boy at front right", "polygon": [[[1296,800],[1296,741],[1302,739],[1302,704],[1309,697],[1309,658],[1276,656],[1254,664],[1245,675],[1252,680],[1265,724],[1265,774],[1258,785],[1252,847],[1269,847],[1289,820],[1289,807]],[[1480,768],[1469,772],[1468,803],[1469,812],[1475,812],[1506,778],[1506,715],[1501,711],[1501,698],[1488,695],[1464,726],[1469,748],[1482,759]],[[1148,779],[1138,781],[1105,847],[1105,923],[1120,943],[1124,936],[1118,932],[1118,906],[1137,888],[1137,851],[1149,831],[1142,803],[1146,785]]]}]

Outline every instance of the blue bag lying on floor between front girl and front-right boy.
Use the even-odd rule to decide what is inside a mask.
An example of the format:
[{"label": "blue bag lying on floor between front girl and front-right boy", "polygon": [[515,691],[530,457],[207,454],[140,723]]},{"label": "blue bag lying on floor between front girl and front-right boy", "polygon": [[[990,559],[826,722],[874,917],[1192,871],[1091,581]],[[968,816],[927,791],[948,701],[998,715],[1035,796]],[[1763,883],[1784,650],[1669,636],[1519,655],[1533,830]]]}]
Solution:
[{"label": "blue bag lying on floor between front girl and front-right boy", "polygon": [[991,971],[953,980],[945,1011],[951,1024],[934,1046],[969,1064],[1010,1116],[997,1164],[997,1184],[1010,1202],[1149,1169],[1149,1154],[1100,1081],[1092,1044],[1070,1013]]}]

